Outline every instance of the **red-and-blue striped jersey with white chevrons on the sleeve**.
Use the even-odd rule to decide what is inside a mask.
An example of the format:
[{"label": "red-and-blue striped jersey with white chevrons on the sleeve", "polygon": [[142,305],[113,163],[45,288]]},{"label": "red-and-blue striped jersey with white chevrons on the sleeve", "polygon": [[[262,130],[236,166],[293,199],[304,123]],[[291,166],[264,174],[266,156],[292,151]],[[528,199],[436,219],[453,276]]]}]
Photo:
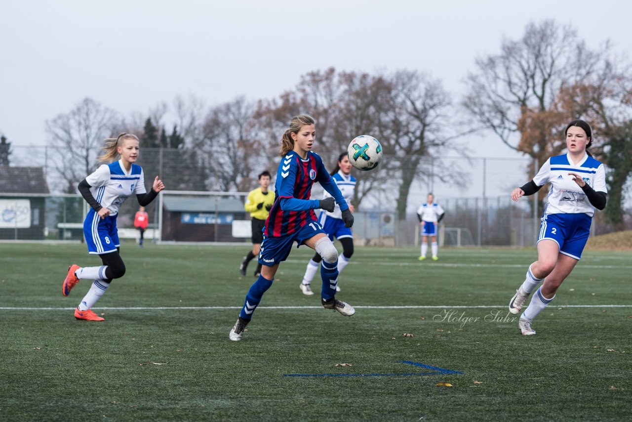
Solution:
[{"label": "red-and-blue striped jersey with white chevrons on the sleeve", "polygon": [[[306,202],[305,209],[300,211],[284,211],[281,209],[281,199],[296,198],[307,200],[312,194],[312,185],[319,182],[325,189],[331,189],[331,176],[327,173],[322,158],[315,152],[308,151],[303,159],[295,151],[289,151],[279,163],[279,170],[274,184],[274,204],[265,220],[264,235],[266,237],[282,237],[292,235],[305,226],[309,221],[316,220],[313,209],[318,208],[317,201],[310,206]],[[335,183],[332,183],[335,187]],[[340,190],[333,195],[344,202]],[[315,206],[313,206],[315,204]]]}]

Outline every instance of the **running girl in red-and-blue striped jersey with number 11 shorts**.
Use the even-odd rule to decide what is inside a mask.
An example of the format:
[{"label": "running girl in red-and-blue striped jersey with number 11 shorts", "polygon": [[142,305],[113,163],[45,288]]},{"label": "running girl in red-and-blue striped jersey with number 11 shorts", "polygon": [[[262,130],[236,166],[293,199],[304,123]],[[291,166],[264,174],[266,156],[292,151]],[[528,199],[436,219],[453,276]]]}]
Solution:
[{"label": "running girl in red-and-blue striped jersey with number 11 shorts", "polygon": [[[246,324],[261,301],[266,290],[274,281],[279,263],[288,258],[292,245],[308,245],[322,257],[321,303],[325,309],[335,309],[351,316],[355,309],[337,300],[338,252],[320,226],[314,209],[334,211],[340,206],[346,227],[353,225],[353,214],[336,183],[325,170],[322,159],[312,152],[315,141],[315,121],[311,116],[292,118],[289,128],[281,138],[281,163],[276,175],[274,204],[265,221],[264,241],[259,252],[261,274],[246,294],[241,313],[229,333],[233,341],[241,340]],[[319,182],[332,197],[309,199],[314,182]]]}]

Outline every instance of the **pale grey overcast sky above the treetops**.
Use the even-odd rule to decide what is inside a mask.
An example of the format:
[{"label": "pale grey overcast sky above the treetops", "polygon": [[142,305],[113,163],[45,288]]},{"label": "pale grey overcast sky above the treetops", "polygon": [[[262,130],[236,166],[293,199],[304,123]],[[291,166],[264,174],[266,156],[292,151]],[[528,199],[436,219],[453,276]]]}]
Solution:
[{"label": "pale grey overcast sky above the treetops", "polygon": [[[426,71],[458,99],[475,58],[528,22],[570,23],[589,47],[609,39],[624,53],[631,12],[612,0],[3,1],[0,133],[43,145],[45,121],[84,97],[123,115],[178,95],[272,98],[329,66]],[[473,143],[516,156],[492,135]]]}]

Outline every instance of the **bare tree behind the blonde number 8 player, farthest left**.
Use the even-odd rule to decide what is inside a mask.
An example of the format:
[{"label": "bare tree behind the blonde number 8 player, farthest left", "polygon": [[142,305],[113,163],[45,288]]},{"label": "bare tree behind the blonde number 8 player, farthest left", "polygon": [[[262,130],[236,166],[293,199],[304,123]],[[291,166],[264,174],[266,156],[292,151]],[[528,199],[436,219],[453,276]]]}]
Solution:
[{"label": "bare tree behind the blonde number 8 player, farthest left", "polygon": [[46,121],[56,156],[54,170],[64,180],[65,192],[76,192],[77,183],[92,173],[103,140],[112,135],[116,123],[116,111],[90,98]]}]

